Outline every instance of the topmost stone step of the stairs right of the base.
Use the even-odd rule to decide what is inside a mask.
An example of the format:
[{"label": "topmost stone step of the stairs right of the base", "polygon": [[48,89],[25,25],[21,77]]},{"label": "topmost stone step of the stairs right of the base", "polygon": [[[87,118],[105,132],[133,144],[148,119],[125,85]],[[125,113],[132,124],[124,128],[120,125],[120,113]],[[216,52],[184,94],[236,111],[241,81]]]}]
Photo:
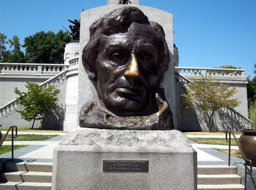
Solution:
[{"label": "topmost stone step of the stairs right of the base", "polygon": [[198,165],[198,175],[236,174],[236,166],[228,165]]}]

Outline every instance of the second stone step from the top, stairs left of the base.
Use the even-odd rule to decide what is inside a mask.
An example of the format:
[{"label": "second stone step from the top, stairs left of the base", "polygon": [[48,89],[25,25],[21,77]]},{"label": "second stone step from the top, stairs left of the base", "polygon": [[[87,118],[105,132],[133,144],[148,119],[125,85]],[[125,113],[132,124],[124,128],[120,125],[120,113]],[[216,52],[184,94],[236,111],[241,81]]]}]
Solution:
[{"label": "second stone step from the top, stairs left of the base", "polygon": [[1,173],[4,182],[38,182],[51,183],[52,172],[4,172]]}]

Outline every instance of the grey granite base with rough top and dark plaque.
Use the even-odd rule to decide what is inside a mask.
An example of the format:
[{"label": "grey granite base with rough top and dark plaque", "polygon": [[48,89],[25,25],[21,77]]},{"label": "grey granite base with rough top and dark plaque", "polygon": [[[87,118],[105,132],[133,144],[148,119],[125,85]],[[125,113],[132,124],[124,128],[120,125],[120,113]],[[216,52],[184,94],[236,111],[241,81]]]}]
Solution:
[{"label": "grey granite base with rough top and dark plaque", "polygon": [[54,190],[189,190],[196,152],[180,131],[78,129],[54,150]]}]

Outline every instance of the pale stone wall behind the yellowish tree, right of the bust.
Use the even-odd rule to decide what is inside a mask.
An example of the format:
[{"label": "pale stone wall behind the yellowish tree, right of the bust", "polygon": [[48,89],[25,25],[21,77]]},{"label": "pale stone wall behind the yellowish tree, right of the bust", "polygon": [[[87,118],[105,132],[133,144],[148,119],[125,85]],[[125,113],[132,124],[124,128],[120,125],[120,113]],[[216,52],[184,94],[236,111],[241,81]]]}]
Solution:
[{"label": "pale stone wall behind the yellowish tree, right of the bust", "polygon": [[[187,68],[189,70],[198,70],[199,68]],[[180,70],[179,68],[176,68],[176,70]],[[204,68],[200,69],[200,72],[204,70]],[[214,69],[205,69],[205,70],[212,70],[214,72]],[[216,71],[219,72],[219,71]],[[222,71],[222,73],[227,73],[231,71]],[[236,87],[237,92],[234,94],[232,98],[237,98],[241,103],[239,103],[239,106],[234,108],[237,113],[243,115],[244,117],[248,118],[248,103],[247,103],[247,91],[246,91],[246,85],[247,80],[244,73],[244,70],[234,70],[232,72],[236,72],[240,74],[234,74],[234,75],[216,75],[213,77],[214,80],[218,80],[219,82],[223,82],[227,84],[230,87]],[[188,78],[189,80],[193,79],[200,79],[200,75],[193,75],[189,72],[183,73],[182,76]],[[185,108],[186,101],[185,98],[180,96],[180,94],[186,93],[186,85],[184,85],[183,82],[180,82],[180,80],[177,77],[176,84],[179,87],[179,91],[177,91],[177,110],[180,110],[180,115],[176,115],[176,117],[181,118],[180,119],[180,126],[179,129],[181,131],[207,131],[209,128],[207,127],[207,124],[204,121],[202,113],[196,112],[195,110],[192,110],[190,108]],[[179,99],[179,100],[178,100]],[[216,117],[214,119],[214,122],[216,124],[216,127],[213,129],[214,131],[226,131],[227,129],[233,129],[234,131],[239,131],[243,128],[248,127],[248,124],[244,123],[243,116],[237,115],[236,112],[233,112],[229,109],[221,110],[216,114]]]}]

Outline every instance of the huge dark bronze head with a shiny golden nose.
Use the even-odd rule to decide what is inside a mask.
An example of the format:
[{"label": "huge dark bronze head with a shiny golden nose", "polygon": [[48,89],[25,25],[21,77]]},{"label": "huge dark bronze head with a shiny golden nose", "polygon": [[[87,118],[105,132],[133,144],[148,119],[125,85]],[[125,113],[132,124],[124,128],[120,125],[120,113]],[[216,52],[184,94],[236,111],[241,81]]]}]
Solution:
[{"label": "huge dark bronze head with a shiny golden nose", "polygon": [[164,30],[140,9],[125,6],[96,20],[82,61],[100,100],[83,106],[81,127],[173,129],[159,89],[170,62]]}]

